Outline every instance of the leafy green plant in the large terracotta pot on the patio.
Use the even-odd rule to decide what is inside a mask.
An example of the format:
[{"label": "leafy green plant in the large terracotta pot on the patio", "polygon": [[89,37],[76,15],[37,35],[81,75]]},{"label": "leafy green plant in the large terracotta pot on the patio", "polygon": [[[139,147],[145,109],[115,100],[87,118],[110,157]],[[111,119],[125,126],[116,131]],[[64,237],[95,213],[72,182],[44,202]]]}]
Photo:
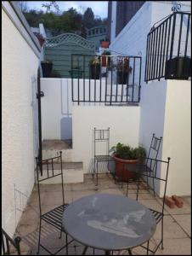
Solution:
[{"label": "leafy green plant in the large terracotta pot on the patio", "polygon": [[116,157],[124,160],[142,160],[146,156],[146,151],[142,147],[131,148],[129,145],[117,143],[116,146],[110,148],[110,152]]}]

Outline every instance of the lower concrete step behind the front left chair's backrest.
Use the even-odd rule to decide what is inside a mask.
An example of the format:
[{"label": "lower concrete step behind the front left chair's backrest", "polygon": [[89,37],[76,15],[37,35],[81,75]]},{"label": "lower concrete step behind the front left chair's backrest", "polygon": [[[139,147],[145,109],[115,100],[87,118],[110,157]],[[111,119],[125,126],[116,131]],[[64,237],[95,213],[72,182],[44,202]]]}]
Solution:
[{"label": "lower concrete step behind the front left chair's backrest", "polygon": [[[84,172],[83,172],[83,165],[82,162],[63,162],[63,179],[64,183],[83,183],[84,180]],[[60,164],[54,163],[54,175],[60,173]],[[36,172],[37,175],[37,172]],[[48,171],[47,165],[42,166],[42,176],[39,176],[40,179],[46,177],[52,177],[52,165],[48,164]],[[53,178],[49,178],[45,181],[42,181],[43,184],[57,184],[61,183],[61,176],[56,176]]]}]

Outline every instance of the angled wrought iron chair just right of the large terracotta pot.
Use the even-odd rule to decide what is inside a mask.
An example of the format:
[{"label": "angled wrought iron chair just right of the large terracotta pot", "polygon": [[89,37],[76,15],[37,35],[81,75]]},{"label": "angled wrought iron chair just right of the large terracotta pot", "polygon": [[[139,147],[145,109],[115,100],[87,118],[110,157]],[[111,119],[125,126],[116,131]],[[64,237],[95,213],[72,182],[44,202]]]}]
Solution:
[{"label": "angled wrought iron chair just right of the large terracotta pot", "polygon": [[[129,172],[135,172],[135,177],[133,179],[130,178],[130,179],[127,180],[127,193],[128,193],[128,189],[129,189],[129,183],[136,182],[139,185],[139,182],[142,182],[141,177],[142,177],[143,172],[151,172],[151,174],[154,173],[154,168],[155,168],[154,163],[151,163],[149,160],[150,159],[154,159],[154,160],[157,159],[157,156],[159,154],[159,149],[160,149],[160,146],[161,146],[161,141],[162,141],[162,137],[155,137],[155,133],[153,133],[148,155],[144,160],[142,160],[142,163],[139,163],[139,172],[135,172],[137,167],[135,169],[134,165],[125,165],[124,166],[125,172],[126,172],[127,169],[128,169]],[[146,181],[147,186],[149,188],[148,177],[146,177],[146,179],[147,179],[147,181]],[[154,179],[153,179],[152,186],[153,186],[153,193],[154,193],[154,196],[155,196]],[[139,189],[138,186],[137,186],[137,189]],[[138,196],[138,193],[137,193],[137,196]],[[138,198],[137,198],[137,200],[138,200]]]}]

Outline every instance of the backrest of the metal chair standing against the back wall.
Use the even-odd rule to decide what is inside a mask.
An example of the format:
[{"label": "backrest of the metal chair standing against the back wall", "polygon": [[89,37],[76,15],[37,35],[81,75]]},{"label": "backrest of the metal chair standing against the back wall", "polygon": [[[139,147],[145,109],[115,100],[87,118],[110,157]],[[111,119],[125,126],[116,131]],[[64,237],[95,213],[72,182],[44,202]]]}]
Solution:
[{"label": "backrest of the metal chair standing against the back wall", "polygon": [[[93,134],[93,143],[94,143],[94,156],[98,155],[97,152],[97,145],[98,143],[105,143],[105,150],[104,150],[104,155],[109,155],[109,150],[110,150],[110,128],[108,129],[96,129],[94,127],[94,134]],[[100,147],[99,149],[101,149]],[[104,147],[103,147],[104,148]]]}]

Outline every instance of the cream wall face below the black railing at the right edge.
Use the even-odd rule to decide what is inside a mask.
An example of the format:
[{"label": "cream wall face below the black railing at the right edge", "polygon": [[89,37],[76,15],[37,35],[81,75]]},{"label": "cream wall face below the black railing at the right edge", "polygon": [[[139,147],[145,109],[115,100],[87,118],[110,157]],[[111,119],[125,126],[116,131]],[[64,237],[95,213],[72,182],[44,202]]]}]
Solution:
[{"label": "cream wall face below the black railing at the right edge", "polygon": [[171,157],[168,195],[191,194],[191,81],[167,80],[162,158]]}]

